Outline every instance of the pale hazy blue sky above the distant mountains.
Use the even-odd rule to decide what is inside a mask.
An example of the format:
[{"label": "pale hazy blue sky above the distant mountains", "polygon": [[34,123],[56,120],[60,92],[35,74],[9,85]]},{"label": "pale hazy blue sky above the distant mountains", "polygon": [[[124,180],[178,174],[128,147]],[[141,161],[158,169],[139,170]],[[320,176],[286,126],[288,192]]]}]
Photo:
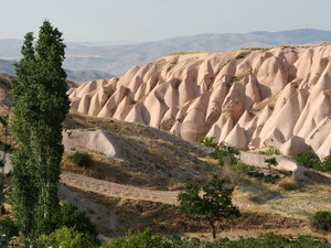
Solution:
[{"label": "pale hazy blue sky above the distant mountains", "polygon": [[45,19],[67,42],[331,30],[330,0],[0,0],[0,39],[36,33]]}]

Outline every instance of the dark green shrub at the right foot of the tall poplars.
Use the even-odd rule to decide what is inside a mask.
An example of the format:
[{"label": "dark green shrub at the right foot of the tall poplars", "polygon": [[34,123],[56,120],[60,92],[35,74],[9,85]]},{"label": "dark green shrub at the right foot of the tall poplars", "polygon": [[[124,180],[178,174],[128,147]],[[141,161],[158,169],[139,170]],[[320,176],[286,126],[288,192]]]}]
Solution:
[{"label": "dark green shrub at the right foot of the tall poplars", "polygon": [[74,227],[78,233],[85,234],[96,241],[97,231],[85,212],[79,212],[75,203],[65,203],[61,207],[60,227]]}]

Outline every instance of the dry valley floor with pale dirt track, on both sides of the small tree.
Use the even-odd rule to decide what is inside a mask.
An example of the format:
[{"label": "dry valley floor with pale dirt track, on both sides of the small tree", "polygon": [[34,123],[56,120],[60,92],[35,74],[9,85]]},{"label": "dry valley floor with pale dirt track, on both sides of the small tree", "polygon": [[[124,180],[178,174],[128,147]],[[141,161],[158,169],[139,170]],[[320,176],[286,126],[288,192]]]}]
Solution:
[{"label": "dry valley floor with pale dirt track, on both sides of the small tree", "polygon": [[[211,238],[210,227],[203,218],[177,212],[179,191],[141,188],[71,172],[62,173],[62,183],[61,197],[76,202],[79,209],[92,217],[106,237],[124,235],[131,228],[150,227],[166,235],[180,234],[205,240]],[[314,185],[314,190],[311,186],[303,187],[301,192],[275,191],[273,195],[265,191],[255,195],[265,197],[265,202],[252,201],[252,191],[257,191],[258,185],[249,185],[250,194],[247,193],[247,187],[237,187],[234,194],[234,202],[239,206],[242,217],[222,223],[220,237],[236,239],[277,231],[331,239],[330,234],[316,233],[309,225],[309,216],[317,209],[331,209],[330,184]]]}]

